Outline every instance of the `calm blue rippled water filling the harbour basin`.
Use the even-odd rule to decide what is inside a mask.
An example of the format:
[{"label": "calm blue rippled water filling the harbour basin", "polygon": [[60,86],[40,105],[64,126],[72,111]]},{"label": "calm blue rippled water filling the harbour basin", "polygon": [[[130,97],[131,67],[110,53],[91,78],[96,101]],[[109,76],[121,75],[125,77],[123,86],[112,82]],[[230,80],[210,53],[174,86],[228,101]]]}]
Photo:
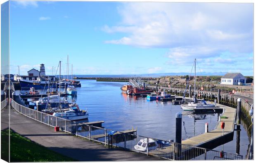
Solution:
[{"label": "calm blue rippled water filling the harbour basin", "polygon": [[[124,82],[97,82],[96,80],[79,80],[82,87],[77,87],[74,100],[81,109],[89,112],[85,122],[104,121],[102,126],[115,131],[137,128],[137,134],[162,140],[175,140],[175,114],[182,112],[182,138],[187,139],[204,133],[205,123],[209,131],[218,123],[217,114],[193,115],[183,111],[179,105],[171,102],[147,101],[147,98],[128,96],[120,90]],[[72,97],[68,96],[69,101]],[[240,133],[240,153],[247,154],[249,138],[242,127]],[[236,131],[231,142],[224,145],[224,151],[236,153]],[[215,150],[221,151],[222,147]]]}]

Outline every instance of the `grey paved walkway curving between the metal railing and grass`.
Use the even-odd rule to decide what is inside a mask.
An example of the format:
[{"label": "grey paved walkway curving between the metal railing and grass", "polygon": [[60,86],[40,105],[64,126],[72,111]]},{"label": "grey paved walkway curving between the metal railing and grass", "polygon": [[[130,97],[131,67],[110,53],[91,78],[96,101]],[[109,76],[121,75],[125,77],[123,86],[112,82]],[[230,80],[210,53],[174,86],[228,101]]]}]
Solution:
[{"label": "grey paved walkway curving between the metal railing and grass", "polygon": [[[1,130],[8,127],[8,110],[1,111]],[[10,111],[11,129],[40,145],[74,158],[78,161],[161,161],[163,159],[122,149],[108,149],[103,145],[64,132],[54,132],[54,128],[41,124]]]}]

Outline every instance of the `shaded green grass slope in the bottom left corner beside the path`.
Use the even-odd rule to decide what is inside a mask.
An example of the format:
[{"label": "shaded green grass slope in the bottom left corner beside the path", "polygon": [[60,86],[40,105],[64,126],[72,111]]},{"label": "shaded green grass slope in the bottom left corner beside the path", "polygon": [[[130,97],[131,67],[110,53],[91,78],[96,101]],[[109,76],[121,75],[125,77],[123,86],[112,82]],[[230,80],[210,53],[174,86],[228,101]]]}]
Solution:
[{"label": "shaded green grass slope in the bottom left corner beside the path", "polygon": [[[8,161],[9,130],[1,131],[1,158]],[[58,154],[42,145],[10,131],[10,161],[11,162],[50,162],[76,161]]]}]

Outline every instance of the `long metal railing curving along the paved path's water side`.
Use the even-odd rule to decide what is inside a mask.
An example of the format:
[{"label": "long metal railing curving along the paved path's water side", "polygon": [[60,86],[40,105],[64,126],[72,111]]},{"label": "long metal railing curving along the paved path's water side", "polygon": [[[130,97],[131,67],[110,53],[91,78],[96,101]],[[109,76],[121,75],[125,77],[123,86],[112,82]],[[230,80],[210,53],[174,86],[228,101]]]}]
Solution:
[{"label": "long metal railing curving along the paved path's water side", "polygon": [[[59,129],[74,135],[87,138],[89,140],[102,142],[109,148],[120,147],[126,150],[140,152],[168,160],[235,160],[243,159],[243,156],[218,152],[211,149],[183,145],[167,140],[149,138],[137,134],[124,133],[121,131],[112,131],[101,127],[90,126],[73,122],[60,117],[39,112],[21,106],[12,101],[12,107],[21,114],[34,119],[48,126],[59,126]],[[110,132],[112,131],[112,134]]]}]

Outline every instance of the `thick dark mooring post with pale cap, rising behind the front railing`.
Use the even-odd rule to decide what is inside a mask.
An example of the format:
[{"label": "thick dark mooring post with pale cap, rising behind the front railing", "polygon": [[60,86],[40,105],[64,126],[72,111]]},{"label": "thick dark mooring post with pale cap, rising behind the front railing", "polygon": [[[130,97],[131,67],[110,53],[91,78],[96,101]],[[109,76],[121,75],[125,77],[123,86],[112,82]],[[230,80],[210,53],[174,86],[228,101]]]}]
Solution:
[{"label": "thick dark mooring post with pale cap, rising behind the front railing", "polygon": [[181,151],[181,129],[182,129],[182,114],[176,113],[176,131],[175,131],[175,144],[177,156],[180,156]]}]

